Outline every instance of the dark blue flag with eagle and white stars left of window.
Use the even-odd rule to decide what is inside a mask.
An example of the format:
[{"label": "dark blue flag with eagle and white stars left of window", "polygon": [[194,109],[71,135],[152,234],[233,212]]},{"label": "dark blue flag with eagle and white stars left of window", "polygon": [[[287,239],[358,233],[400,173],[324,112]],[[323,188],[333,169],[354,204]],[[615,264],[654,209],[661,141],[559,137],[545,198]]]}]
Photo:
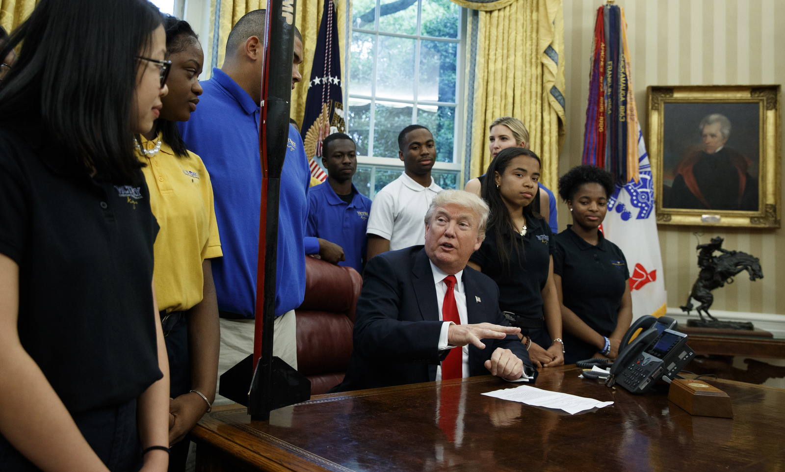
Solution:
[{"label": "dark blue flag with eagle and white stars left of window", "polygon": [[338,21],[335,16],[332,0],[324,0],[301,130],[311,175],[319,181],[327,179],[327,174],[317,164],[322,156],[322,140],[330,134],[343,133],[346,128],[341,87],[341,48],[338,47]]}]

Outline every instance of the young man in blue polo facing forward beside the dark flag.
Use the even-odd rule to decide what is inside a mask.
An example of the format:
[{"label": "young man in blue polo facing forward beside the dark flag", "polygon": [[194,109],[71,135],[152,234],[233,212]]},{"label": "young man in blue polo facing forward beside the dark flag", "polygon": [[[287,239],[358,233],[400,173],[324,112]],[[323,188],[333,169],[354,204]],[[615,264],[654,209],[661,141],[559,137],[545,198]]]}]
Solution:
[{"label": "young man in blue polo facing forward beside the dark flag", "polygon": [[357,192],[352,184],[357,170],[356,145],[346,134],[330,134],[322,141],[322,154],[327,184],[311,188],[305,234],[338,244],[346,256],[346,261],[338,265],[363,273],[371,199]]}]

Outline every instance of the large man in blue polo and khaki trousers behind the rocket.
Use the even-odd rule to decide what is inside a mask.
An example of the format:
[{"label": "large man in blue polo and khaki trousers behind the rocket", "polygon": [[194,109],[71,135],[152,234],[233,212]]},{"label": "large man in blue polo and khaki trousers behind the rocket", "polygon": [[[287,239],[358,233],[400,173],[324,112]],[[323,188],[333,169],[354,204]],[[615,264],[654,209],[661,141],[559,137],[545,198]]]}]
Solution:
[{"label": "large man in blue polo and khaki trousers behind the rocket", "polygon": [[[261,58],[264,53],[265,10],[247,13],[232,28],[224,65],[201,82],[199,106],[188,122],[177,123],[188,149],[198,154],[210,172],[222,258],[211,259],[221,314],[221,357],[218,375],[254,350],[261,163],[259,104]],[[300,82],[302,38],[295,30],[292,88]],[[300,134],[289,130],[287,156],[281,174],[276,322],[273,354],[297,368],[294,309],[305,296],[305,254],[320,254],[338,262],[343,252],[326,240],[305,237],[310,169]],[[228,401],[216,396],[217,404]]]}]

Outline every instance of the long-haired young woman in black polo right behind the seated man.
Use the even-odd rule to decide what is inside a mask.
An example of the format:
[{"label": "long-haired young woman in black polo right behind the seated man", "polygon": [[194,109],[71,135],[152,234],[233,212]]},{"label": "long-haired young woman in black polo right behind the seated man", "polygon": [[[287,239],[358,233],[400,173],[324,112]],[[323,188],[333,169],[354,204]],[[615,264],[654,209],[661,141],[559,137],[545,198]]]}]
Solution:
[{"label": "long-haired young woman in black polo right behind the seated man", "polygon": [[553,284],[553,234],[533,209],[539,157],[506,148],[488,166],[482,197],[491,207],[485,240],[469,265],[498,285],[498,303],[535,367],[564,364],[561,313]]}]

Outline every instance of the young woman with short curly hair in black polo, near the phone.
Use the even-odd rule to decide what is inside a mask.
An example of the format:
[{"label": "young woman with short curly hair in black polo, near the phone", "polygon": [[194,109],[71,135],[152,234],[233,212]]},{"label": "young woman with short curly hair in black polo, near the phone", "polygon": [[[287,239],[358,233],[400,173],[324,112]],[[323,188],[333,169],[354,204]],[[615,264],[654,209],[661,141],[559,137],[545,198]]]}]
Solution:
[{"label": "young woman with short curly hair in black polo, near the phone", "polygon": [[633,320],[630,268],[622,250],[600,231],[614,182],[613,174],[595,166],[575,166],[559,179],[559,195],[572,217],[555,236],[553,251],[566,364],[615,359]]}]

